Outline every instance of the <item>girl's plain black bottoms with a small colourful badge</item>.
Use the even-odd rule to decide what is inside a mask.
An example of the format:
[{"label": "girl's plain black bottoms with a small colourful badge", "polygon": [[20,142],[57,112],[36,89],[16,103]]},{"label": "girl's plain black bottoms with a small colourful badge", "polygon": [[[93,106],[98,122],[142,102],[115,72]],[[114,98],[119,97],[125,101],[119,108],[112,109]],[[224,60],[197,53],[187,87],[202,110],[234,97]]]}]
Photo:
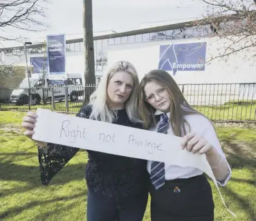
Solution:
[{"label": "girl's plain black bottoms with a small colourful badge", "polygon": [[166,181],[157,191],[151,184],[150,195],[152,221],[214,220],[212,189],[205,175]]}]

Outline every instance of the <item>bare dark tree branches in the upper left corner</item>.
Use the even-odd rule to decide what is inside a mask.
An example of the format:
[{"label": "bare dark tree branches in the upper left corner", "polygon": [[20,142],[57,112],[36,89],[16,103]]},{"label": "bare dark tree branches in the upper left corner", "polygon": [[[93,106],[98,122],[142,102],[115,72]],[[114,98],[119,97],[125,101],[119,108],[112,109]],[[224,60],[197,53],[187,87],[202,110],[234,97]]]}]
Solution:
[{"label": "bare dark tree branches in the upper left corner", "polygon": [[11,36],[10,30],[42,31],[39,28],[44,28],[46,24],[40,21],[40,18],[45,17],[42,5],[46,1],[2,0],[0,2],[0,41],[24,41],[24,37]]}]

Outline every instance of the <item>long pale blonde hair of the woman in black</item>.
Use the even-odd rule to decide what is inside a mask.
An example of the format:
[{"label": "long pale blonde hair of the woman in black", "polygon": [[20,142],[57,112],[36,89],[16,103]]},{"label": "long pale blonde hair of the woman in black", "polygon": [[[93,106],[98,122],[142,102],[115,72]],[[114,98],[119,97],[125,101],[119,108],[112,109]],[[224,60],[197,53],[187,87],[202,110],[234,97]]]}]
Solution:
[{"label": "long pale blonde hair of the woman in black", "polygon": [[134,81],[134,87],[131,95],[125,102],[125,108],[127,115],[131,122],[141,122],[138,118],[138,113],[136,111],[136,101],[138,95],[138,74],[134,66],[128,61],[118,61],[116,64],[110,68],[110,70],[103,75],[97,90],[91,95],[89,105],[92,106],[92,112],[90,119],[98,119],[102,122],[113,122],[116,119],[116,111],[111,110],[107,105],[107,86],[109,85],[109,80],[118,71],[123,71],[131,75]]}]

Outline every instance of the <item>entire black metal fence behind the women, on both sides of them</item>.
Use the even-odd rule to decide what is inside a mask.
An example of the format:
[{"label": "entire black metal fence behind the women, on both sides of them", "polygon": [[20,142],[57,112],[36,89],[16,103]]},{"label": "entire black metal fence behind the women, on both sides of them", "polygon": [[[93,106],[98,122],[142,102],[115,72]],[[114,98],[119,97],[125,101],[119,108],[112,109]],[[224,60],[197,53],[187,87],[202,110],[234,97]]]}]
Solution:
[{"label": "entire black metal fence behind the women, on both sides of them", "polygon": [[[256,83],[180,84],[185,99],[213,121],[256,122]],[[0,111],[36,111],[48,108],[77,113],[95,86],[0,88]],[[30,97],[28,97],[30,94]]]}]

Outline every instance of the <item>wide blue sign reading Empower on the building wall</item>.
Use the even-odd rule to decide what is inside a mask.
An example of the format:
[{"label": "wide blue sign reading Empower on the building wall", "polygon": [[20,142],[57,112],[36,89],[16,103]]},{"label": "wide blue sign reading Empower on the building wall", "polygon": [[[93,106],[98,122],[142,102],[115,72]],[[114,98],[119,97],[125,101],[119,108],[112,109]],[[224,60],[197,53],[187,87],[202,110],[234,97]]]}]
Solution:
[{"label": "wide blue sign reading Empower on the building wall", "polygon": [[173,75],[178,70],[205,70],[205,56],[206,42],[162,45],[158,69],[172,71]]}]

